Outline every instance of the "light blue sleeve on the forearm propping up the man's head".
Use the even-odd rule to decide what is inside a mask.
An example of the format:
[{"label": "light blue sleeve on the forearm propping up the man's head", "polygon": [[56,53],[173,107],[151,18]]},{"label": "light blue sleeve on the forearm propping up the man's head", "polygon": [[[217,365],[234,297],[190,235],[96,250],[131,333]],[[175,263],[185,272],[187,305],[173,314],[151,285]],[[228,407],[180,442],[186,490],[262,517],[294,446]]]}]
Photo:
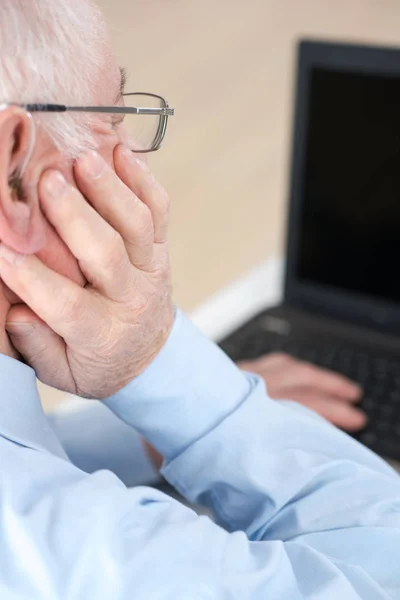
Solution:
[{"label": "light blue sleeve on the forearm propping up the man's head", "polygon": [[[282,551],[291,564],[282,575],[303,582],[298,590],[307,565],[337,580],[335,597],[341,580],[372,590],[389,577],[400,586],[395,471],[315,413],[271,400],[260,378],[239,371],[181,312],[152,365],[107,404],[165,457],[163,475],[190,502],[243,532],[256,543],[251,552]],[[384,560],[371,553],[377,536]]]}]

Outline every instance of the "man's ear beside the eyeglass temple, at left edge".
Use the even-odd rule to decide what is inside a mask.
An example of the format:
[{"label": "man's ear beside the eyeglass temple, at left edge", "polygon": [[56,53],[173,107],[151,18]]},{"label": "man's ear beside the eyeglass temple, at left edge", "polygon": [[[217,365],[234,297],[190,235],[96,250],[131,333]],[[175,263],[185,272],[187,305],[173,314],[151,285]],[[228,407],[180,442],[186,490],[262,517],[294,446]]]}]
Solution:
[{"label": "man's ear beside the eyeglass temple, at left edge", "polygon": [[26,166],[29,171],[34,126],[22,108],[0,110],[0,241],[29,254],[45,244],[37,186],[22,172]]}]

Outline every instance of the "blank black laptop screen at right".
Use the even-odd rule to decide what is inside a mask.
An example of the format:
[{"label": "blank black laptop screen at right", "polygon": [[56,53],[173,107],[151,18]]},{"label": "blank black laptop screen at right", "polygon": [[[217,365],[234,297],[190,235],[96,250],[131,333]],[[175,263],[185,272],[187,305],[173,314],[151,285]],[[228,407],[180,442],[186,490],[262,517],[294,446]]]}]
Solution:
[{"label": "blank black laptop screen at right", "polygon": [[297,278],[400,301],[400,78],[311,78]]}]

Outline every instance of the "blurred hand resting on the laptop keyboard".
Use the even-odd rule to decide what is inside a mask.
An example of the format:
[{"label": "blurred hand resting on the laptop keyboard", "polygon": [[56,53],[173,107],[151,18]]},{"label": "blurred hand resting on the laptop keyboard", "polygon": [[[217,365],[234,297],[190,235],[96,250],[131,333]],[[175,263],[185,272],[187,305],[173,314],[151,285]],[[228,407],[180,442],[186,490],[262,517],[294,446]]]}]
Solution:
[{"label": "blurred hand resting on the laptop keyboard", "polygon": [[295,400],[347,431],[357,431],[366,424],[365,414],[354,406],[361,398],[361,389],[337,373],[286,354],[269,354],[241,362],[239,367],[261,375],[271,398]]}]

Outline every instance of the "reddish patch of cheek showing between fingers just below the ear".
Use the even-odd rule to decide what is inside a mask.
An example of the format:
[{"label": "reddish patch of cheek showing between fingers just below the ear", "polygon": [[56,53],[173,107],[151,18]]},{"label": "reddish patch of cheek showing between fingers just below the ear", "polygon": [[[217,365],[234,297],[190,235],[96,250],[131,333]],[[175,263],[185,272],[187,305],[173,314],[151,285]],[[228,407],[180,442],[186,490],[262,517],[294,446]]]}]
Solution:
[{"label": "reddish patch of cheek showing between fingers just below the ear", "polygon": [[37,253],[37,257],[53,271],[71,279],[84,287],[87,280],[79,268],[79,263],[68,246],[62,241],[55,229],[46,221],[46,246]]}]

